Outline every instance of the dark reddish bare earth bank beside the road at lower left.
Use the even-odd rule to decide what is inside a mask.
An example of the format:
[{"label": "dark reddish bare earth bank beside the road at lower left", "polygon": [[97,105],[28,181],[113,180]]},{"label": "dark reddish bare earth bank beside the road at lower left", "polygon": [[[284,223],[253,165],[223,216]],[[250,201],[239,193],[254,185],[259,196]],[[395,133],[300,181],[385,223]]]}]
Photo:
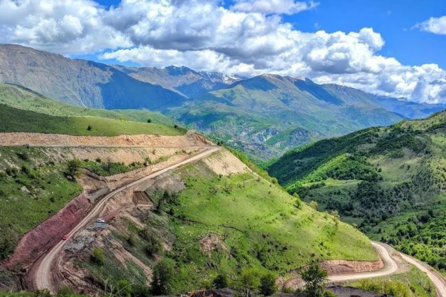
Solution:
[{"label": "dark reddish bare earth bank beside the road at lower left", "polygon": [[76,226],[92,205],[84,194],[72,199],[56,214],[27,232],[4,267],[13,268],[19,263],[27,267],[32,264]]}]

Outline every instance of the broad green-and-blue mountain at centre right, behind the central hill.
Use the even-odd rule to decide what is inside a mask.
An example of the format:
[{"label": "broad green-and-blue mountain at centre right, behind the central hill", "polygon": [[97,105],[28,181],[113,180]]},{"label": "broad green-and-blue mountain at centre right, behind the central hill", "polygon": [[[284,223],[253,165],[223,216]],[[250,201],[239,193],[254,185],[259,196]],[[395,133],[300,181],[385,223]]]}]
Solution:
[{"label": "broad green-and-blue mountain at centre right, behind the central hill", "polygon": [[406,118],[383,108],[373,95],[360,95],[355,99],[349,90],[336,93],[309,79],[265,74],[191,99],[170,114],[251,156],[269,158],[317,139]]}]

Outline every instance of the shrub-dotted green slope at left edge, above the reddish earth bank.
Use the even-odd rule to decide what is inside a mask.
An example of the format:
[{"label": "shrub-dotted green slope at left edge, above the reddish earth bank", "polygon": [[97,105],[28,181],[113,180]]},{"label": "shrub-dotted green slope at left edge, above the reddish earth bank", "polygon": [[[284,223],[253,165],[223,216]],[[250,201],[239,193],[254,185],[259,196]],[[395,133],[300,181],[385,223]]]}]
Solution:
[{"label": "shrub-dotted green slope at left edge, above the reddish earth bank", "polygon": [[68,181],[64,164],[53,163],[42,148],[3,147],[0,154],[1,259],[23,233],[56,213],[82,188]]}]

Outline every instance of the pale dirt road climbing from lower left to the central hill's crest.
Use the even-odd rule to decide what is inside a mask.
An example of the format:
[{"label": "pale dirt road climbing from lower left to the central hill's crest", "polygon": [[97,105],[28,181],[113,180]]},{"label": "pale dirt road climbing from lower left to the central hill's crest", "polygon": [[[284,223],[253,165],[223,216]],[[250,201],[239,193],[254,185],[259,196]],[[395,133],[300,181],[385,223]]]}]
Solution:
[{"label": "pale dirt road climbing from lower left to the central hill's crest", "polygon": [[[175,169],[178,168],[182,165],[194,162],[196,160],[199,160],[205,156],[210,155],[211,153],[219,150],[220,147],[210,147],[205,151],[202,151],[196,155],[191,156],[190,158],[183,160],[181,162],[178,162],[176,164],[173,164],[171,166],[168,166],[164,169],[161,169],[159,171],[156,171],[148,176],[145,176],[139,180],[136,180],[130,184],[127,184],[123,187],[120,187],[116,190],[114,190],[113,192],[111,192],[110,194],[108,194],[107,196],[105,196],[104,198],[101,199],[101,201],[95,205],[95,207],[87,214],[87,216],[85,216],[85,218],[82,219],[82,221],[76,225],[76,227],[74,227],[70,233],[68,233],[69,238],[71,238],[74,234],[76,234],[79,230],[83,229],[86,225],[88,225],[88,223],[90,223],[91,221],[95,220],[96,217],[98,216],[98,214],[101,212],[102,208],[104,207],[104,205],[107,203],[107,201],[113,197],[114,195],[116,195],[117,193],[133,187],[135,185],[138,185],[140,183],[143,183],[145,181],[147,181],[148,179],[152,179],[160,174],[163,174],[171,169]],[[53,264],[56,262],[56,256],[58,255],[58,253],[62,250],[62,248],[65,246],[65,244],[68,241],[60,241],[59,243],[57,243],[54,247],[52,247],[42,258],[41,261],[38,262],[38,267],[34,273],[34,283],[37,289],[49,289],[52,293],[56,293],[56,288],[54,288],[54,286],[52,285],[51,281],[52,281],[52,274],[53,274]]]}]

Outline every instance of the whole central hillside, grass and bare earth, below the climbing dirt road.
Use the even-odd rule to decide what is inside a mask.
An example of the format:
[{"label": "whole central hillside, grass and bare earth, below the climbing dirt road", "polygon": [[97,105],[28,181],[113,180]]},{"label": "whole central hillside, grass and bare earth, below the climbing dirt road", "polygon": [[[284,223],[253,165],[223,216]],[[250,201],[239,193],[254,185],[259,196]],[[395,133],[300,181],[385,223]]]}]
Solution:
[{"label": "whole central hillside, grass and bare earth, below the climbing dirt road", "polygon": [[[91,278],[96,284],[128,279],[147,285],[163,257],[175,266],[171,286],[177,294],[219,272],[236,277],[245,266],[286,276],[312,259],[377,259],[360,232],[295,203],[219,150],[112,197],[101,213],[108,227],[87,226],[73,234],[73,245],[64,252],[69,261],[61,263],[60,272],[70,283],[89,283],[84,292],[92,294],[98,288]],[[148,253],[152,237],[164,252]],[[104,264],[91,261],[94,248],[103,250]]]}]

